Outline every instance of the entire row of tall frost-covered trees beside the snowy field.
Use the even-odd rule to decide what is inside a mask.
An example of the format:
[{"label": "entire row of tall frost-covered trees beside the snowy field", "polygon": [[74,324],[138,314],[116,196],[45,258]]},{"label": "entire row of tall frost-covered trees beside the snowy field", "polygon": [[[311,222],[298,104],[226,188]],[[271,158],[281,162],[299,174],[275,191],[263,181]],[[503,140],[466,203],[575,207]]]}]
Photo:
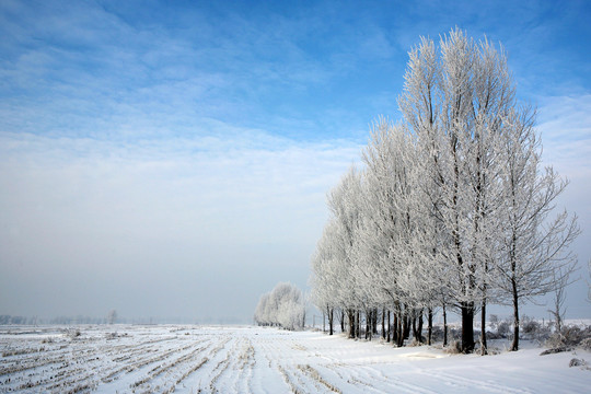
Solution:
[{"label": "entire row of tall frost-covered trees beside the snowy field", "polygon": [[360,313],[391,311],[401,346],[412,317],[431,327],[436,308],[452,308],[465,352],[475,314],[484,328],[487,304],[508,304],[517,350],[520,304],[566,286],[579,233],[575,216],[551,217],[567,182],[542,167],[535,111],[517,101],[502,48],[459,30],[409,53],[398,106],[402,121],[378,119],[363,167],[328,195],[313,301],[331,332],[346,315],[351,336]]}]

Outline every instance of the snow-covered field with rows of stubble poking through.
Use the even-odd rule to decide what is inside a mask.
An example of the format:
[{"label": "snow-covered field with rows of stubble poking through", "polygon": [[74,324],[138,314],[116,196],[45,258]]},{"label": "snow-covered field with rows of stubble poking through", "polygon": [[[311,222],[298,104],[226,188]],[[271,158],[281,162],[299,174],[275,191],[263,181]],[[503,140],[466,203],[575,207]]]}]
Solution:
[{"label": "snow-covered field with rows of stubble poking through", "polygon": [[[76,331],[80,332],[77,336]],[[577,350],[450,356],[275,328],[0,328],[0,392],[589,393]],[[590,362],[591,363],[591,362]]]}]

